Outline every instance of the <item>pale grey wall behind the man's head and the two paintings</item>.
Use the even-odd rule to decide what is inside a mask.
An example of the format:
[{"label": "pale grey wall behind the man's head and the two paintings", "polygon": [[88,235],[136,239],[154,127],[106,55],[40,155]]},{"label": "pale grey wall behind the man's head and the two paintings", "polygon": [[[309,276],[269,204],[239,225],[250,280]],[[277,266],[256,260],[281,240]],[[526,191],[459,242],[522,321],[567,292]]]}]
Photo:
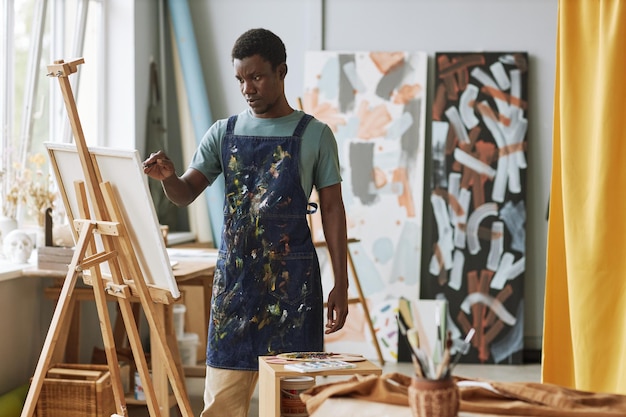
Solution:
[{"label": "pale grey wall behind the man's head and the two paintings", "polygon": [[252,27],[266,27],[285,42],[289,65],[286,92],[292,106],[303,91],[304,53],[308,49],[425,51],[431,58],[431,70],[435,52],[527,51],[530,106],[525,344],[530,349],[541,348],[557,0],[189,3],[215,119],[244,108],[232,72],[230,50],[237,36]]}]

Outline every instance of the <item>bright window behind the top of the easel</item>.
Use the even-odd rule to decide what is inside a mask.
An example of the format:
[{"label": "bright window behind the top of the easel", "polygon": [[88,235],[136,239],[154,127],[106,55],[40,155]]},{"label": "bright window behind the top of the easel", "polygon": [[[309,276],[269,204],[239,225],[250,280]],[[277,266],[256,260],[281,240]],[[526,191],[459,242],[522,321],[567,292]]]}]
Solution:
[{"label": "bright window behind the top of the easel", "polygon": [[[21,225],[35,223],[39,213],[33,201],[10,204],[11,189],[20,181],[47,178],[44,142],[73,141],[58,80],[46,76],[55,60],[83,57],[91,64],[79,66],[70,81],[87,143],[103,142],[104,106],[97,99],[104,96],[104,77],[98,73],[103,68],[102,8],[103,0],[2,0],[1,214],[16,217]],[[36,177],[37,171],[43,177]]]}]

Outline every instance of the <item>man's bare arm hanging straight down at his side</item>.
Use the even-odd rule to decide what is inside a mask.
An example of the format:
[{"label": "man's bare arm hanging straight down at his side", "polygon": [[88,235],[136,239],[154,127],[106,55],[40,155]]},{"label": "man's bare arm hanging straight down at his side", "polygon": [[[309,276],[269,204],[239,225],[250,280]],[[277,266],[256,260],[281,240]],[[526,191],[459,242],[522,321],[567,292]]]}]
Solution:
[{"label": "man's bare arm hanging straight down at his side", "polygon": [[318,190],[322,227],[335,276],[335,286],[328,295],[326,333],[341,329],[348,315],[348,237],[346,211],[341,196],[341,184]]}]

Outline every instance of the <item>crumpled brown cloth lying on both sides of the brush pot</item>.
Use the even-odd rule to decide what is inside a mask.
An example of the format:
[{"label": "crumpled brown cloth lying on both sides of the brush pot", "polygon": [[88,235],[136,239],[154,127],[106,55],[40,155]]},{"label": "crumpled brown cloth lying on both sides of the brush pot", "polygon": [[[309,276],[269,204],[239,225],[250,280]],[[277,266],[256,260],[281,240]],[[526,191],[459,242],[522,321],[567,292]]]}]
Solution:
[{"label": "crumpled brown cloth lying on both sides of the brush pot", "polygon": [[[626,396],[577,391],[534,382],[495,382],[455,377],[461,394],[459,410],[501,416],[624,417]],[[395,405],[409,405],[411,377],[390,373],[317,385],[300,394],[309,414],[330,397],[353,397]]]}]

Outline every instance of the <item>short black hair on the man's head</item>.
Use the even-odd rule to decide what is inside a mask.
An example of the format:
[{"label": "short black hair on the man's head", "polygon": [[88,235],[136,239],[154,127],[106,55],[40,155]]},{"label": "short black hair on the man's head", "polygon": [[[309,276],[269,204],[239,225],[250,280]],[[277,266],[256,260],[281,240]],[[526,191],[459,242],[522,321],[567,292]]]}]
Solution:
[{"label": "short black hair on the man's head", "polygon": [[232,60],[249,58],[253,55],[261,58],[272,65],[272,69],[283,62],[287,62],[285,44],[273,32],[267,29],[250,29],[243,33],[233,46]]}]

